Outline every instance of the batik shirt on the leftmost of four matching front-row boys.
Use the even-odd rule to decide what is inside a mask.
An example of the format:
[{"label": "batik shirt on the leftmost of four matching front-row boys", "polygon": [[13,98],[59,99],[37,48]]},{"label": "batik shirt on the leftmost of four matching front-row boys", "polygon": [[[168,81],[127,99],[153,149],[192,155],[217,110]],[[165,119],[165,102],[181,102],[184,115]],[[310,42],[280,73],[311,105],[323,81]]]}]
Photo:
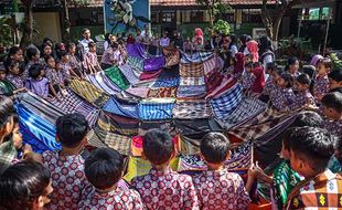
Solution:
[{"label": "batik shirt on the leftmost of four matching front-row boys", "polygon": [[89,183],[84,174],[84,159],[81,155],[61,156],[58,153],[45,151],[43,162],[51,171],[53,199],[47,210],[78,210],[77,204],[83,191]]}]

